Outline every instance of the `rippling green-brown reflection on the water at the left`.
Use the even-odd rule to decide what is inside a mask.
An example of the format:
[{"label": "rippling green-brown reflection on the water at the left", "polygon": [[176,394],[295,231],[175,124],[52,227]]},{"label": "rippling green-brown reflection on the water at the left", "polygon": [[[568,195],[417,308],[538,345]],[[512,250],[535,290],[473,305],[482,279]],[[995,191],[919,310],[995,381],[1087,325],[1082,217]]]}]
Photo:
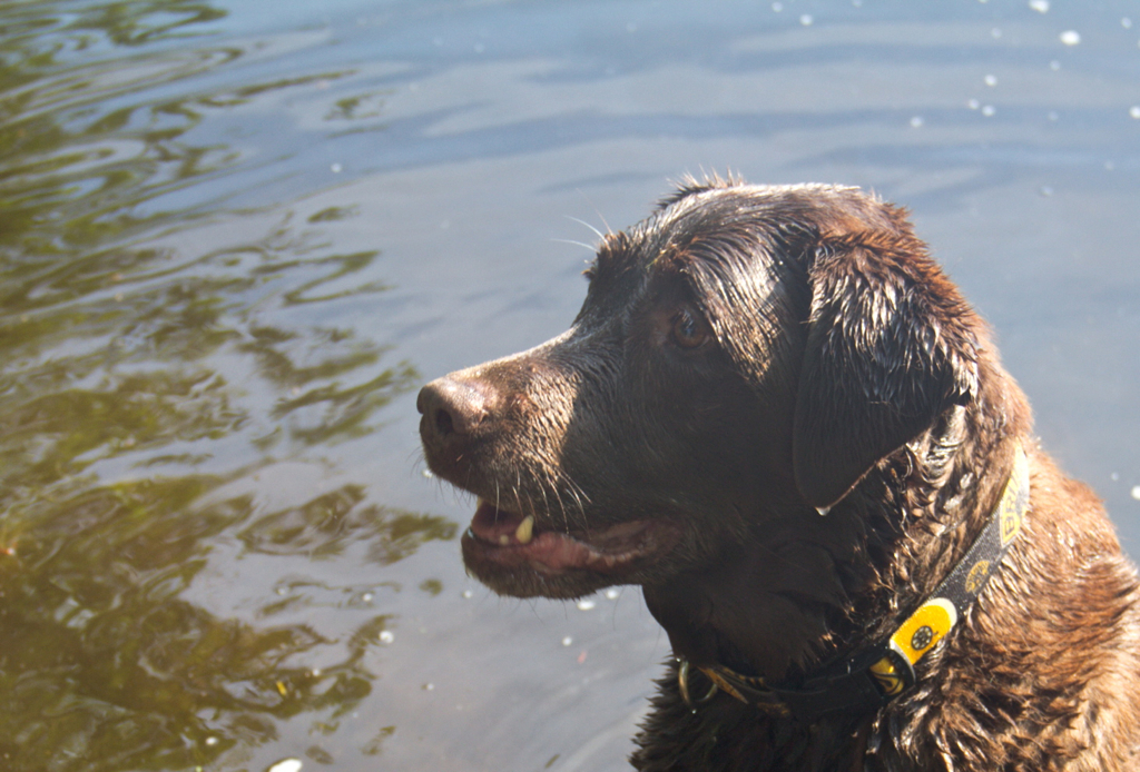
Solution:
[{"label": "rippling green-brown reflection on the water at the left", "polygon": [[[201,131],[207,114],[339,76],[173,96],[245,55],[211,44],[225,15],[180,0],[0,10],[5,769],[239,762],[306,712],[335,731],[372,690],[365,655],[390,614],[303,575],[249,618],[188,590],[228,544],[295,572],[351,544],[386,565],[455,533],[359,484],[269,511],[249,492],[259,469],[373,433],[420,376],[341,310],[388,289],[378,252],[339,254],[323,230],[351,204],[306,220],[182,192],[249,170]],[[347,634],[285,619],[325,602],[365,618]]]}]

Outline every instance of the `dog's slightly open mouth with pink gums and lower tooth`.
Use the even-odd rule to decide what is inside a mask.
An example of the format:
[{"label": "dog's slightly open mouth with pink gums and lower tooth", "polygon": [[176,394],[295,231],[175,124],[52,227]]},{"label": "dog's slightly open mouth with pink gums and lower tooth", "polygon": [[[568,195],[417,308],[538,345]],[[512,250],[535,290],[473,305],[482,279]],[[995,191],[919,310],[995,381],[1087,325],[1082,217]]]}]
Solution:
[{"label": "dog's slightly open mouth with pink gums and lower tooth", "polygon": [[499,569],[529,567],[545,575],[619,574],[671,549],[678,534],[678,528],[659,518],[588,531],[555,529],[538,524],[534,515],[510,512],[480,499],[463,535],[463,551],[477,575],[480,564]]}]

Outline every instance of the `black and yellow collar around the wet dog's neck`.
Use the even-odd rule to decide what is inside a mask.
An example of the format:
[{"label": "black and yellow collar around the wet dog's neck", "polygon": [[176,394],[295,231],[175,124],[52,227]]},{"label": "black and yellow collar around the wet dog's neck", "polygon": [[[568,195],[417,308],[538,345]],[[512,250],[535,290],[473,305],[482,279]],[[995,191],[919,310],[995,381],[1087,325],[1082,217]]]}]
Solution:
[{"label": "black and yellow collar around the wet dog's neck", "polygon": [[[914,665],[946,637],[1001,565],[1021,529],[1029,508],[1029,462],[1018,444],[1013,469],[990,521],[974,545],[934,594],[906,617],[882,643],[826,668],[796,687],[768,685],[724,665],[701,667],[712,682],[705,699],[719,688],[765,713],[812,723],[836,712],[868,713],[914,685]],[[689,696],[689,663],[678,671],[681,693]],[[701,700],[703,701],[703,700]]]}]

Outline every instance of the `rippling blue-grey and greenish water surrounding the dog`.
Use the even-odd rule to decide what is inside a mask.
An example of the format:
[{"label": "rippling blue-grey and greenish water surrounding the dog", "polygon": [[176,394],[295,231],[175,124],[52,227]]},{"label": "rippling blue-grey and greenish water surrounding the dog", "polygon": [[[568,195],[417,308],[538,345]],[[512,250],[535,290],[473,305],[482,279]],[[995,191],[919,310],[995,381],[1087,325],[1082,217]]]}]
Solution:
[{"label": "rippling blue-grey and greenish water surrounding the dog", "polygon": [[909,205],[1137,552],[1138,40],[1126,2],[6,3],[3,769],[621,769],[667,641],[632,589],[467,580],[414,397],[561,331],[575,219],[685,172]]}]

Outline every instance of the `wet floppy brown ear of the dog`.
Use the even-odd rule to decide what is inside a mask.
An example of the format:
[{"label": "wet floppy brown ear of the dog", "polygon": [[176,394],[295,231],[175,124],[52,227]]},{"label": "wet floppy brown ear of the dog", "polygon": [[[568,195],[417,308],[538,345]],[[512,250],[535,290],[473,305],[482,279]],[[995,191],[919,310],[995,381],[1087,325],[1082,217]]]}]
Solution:
[{"label": "wet floppy brown ear of the dog", "polygon": [[824,237],[808,274],[792,463],[821,511],[976,387],[982,322],[891,215],[894,232]]}]

